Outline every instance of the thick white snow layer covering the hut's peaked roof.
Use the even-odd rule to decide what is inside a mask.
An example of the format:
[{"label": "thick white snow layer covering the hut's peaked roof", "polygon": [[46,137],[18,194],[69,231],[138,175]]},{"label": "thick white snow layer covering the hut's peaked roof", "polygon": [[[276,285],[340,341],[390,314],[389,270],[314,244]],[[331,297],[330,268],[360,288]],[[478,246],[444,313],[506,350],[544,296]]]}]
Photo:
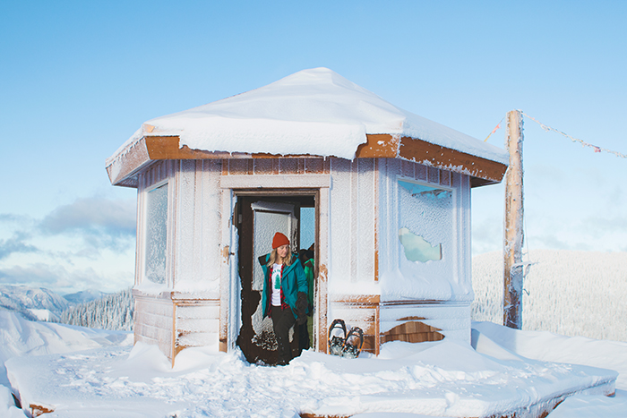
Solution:
[{"label": "thick white snow layer covering the hut's peaked roof", "polygon": [[[328,68],[303,70],[262,88],[151,119],[107,159],[111,166],[148,137],[226,153],[356,158],[368,135],[424,141],[506,166],[508,154],[412,114]],[[416,158],[414,158],[417,160]]]}]

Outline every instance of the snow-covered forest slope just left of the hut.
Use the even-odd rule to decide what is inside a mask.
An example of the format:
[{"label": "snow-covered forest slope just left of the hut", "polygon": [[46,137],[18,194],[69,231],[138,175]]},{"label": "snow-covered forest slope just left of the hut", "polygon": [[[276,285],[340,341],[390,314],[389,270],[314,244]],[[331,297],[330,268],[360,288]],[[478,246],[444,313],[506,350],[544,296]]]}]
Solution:
[{"label": "snow-covered forest slope just left of the hut", "polygon": [[133,294],[128,288],[68,308],[61,313],[59,322],[87,328],[132,331],[133,311]]}]

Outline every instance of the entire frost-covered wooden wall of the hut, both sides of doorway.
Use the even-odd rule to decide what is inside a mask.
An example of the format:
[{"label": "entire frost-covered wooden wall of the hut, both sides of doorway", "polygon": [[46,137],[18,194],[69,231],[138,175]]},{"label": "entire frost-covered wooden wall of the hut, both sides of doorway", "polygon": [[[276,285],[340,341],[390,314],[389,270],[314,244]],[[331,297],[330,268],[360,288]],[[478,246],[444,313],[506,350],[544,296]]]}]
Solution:
[{"label": "entire frost-covered wooden wall of the hut, both sides of doorway", "polygon": [[[139,175],[136,285],[142,277],[145,193],[167,181],[169,294],[136,297],[137,341],[159,344],[170,358],[186,346],[215,344],[226,349],[226,327],[233,320],[229,301],[236,296],[230,294],[235,289],[228,277],[234,273],[225,275],[225,269],[230,271],[232,266],[228,266],[223,247],[226,251],[225,245],[236,245],[228,221],[233,201],[230,188],[242,185],[225,185],[229,183],[225,177],[236,177],[230,182],[233,184],[248,184],[246,178],[259,183],[263,175],[275,175],[277,184],[282,175],[299,179],[311,175],[313,184],[327,176],[331,184],[331,188],[328,184],[304,186],[326,187],[327,191],[321,193],[319,205],[319,244],[324,253],[318,254],[321,276],[316,298],[323,310],[316,322],[318,349],[326,351],[326,327],[335,318],[364,329],[364,348],[374,353],[382,342],[394,339],[469,338],[472,290],[467,175],[397,158],[248,158],[163,161]],[[399,176],[455,190],[454,274],[445,278],[455,292],[448,300],[391,300],[382,288],[382,276],[398,267]],[[263,187],[274,183],[262,182]],[[228,218],[223,217],[225,213]],[[229,331],[233,339],[231,334]]]}]

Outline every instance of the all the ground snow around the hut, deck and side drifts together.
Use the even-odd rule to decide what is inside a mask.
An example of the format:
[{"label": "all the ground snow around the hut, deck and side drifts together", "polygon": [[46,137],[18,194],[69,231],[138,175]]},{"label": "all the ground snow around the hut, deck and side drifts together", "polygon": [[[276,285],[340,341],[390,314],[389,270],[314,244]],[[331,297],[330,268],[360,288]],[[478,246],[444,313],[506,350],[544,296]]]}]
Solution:
[{"label": "all the ground snow around the hut, deck and side drifts together", "polygon": [[[370,418],[392,412],[412,418],[420,416],[411,414],[417,412],[485,416],[524,413],[529,405],[545,405],[563,392],[601,385],[587,392],[598,395],[603,388],[611,391],[612,383],[603,385],[616,376],[585,365],[528,360],[522,352],[566,360],[571,354],[558,354],[565,351],[563,341],[572,338],[549,333],[538,338],[494,324],[475,324],[477,351],[449,339],[416,345],[392,342],[382,346],[378,357],[364,354],[348,360],[307,351],[286,367],[267,367],[246,363],[239,352],[217,354],[213,347],[204,347],[184,350],[172,367],[155,346],[132,348],[130,333],[30,322],[4,311],[0,321],[4,358],[45,354],[29,356],[28,361],[13,356],[6,366],[22,401],[55,409],[47,417],[291,418],[300,412]],[[588,342],[577,346],[597,350],[607,343]],[[544,350],[529,348],[540,343]],[[572,345],[572,355],[577,346]],[[577,359],[591,358],[592,353]],[[620,372],[627,373],[625,359],[625,345],[608,345],[595,365],[614,368],[620,363]],[[594,410],[598,403],[608,410],[627,410],[627,397],[581,399]],[[568,402],[558,409],[568,408]],[[11,405],[10,395],[0,391],[0,416],[22,416]],[[596,416],[581,412],[585,405],[572,407],[578,415],[568,416]]]}]

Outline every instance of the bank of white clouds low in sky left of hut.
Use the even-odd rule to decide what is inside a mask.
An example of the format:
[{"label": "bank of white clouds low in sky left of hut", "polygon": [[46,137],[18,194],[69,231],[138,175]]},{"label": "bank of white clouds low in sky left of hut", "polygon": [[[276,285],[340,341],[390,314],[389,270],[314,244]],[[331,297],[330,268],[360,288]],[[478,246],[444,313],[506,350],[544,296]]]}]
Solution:
[{"label": "bank of white clouds low in sky left of hut", "polygon": [[0,215],[0,283],[59,293],[133,286],[134,200],[89,198],[42,220]]}]

